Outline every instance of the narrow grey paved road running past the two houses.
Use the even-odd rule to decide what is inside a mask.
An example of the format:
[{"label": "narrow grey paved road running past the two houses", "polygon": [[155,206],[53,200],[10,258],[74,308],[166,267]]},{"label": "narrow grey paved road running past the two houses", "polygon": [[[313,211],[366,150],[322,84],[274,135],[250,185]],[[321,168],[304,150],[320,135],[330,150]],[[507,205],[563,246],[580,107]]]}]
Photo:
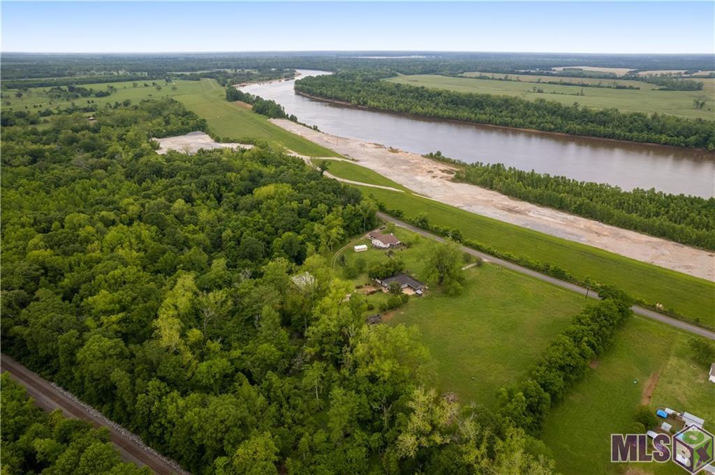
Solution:
[{"label": "narrow grey paved road running past the two houses", "polygon": [[[378,211],[378,216],[380,217],[380,219],[383,219],[385,221],[392,221],[393,223],[395,223],[396,225],[398,225],[402,228],[409,229],[410,231],[421,234],[423,236],[427,236],[428,238],[434,239],[435,241],[440,241],[440,242],[447,241],[442,236],[438,236],[437,234],[432,234],[428,231],[424,231],[423,229],[420,229],[417,226],[413,226],[412,224],[405,223],[404,221],[400,221],[399,219],[395,219],[395,218],[393,218],[393,216],[382,213],[380,211]],[[559,286],[563,289],[577,292],[578,294],[581,294],[581,295],[586,295],[588,292],[588,296],[591,297],[591,299],[598,299],[598,294],[596,294],[596,292],[587,291],[585,288],[578,286],[576,284],[571,284],[570,282],[562,281],[561,279],[556,279],[556,277],[551,277],[551,276],[547,276],[546,274],[541,274],[541,272],[527,269],[526,267],[520,266],[518,264],[514,264],[513,262],[505,261],[504,259],[499,259],[498,257],[490,256],[490,254],[484,254],[483,252],[475,251],[475,249],[471,249],[470,247],[462,246],[462,250],[468,254],[473,255],[473,256],[478,256],[478,257],[484,259],[485,261],[493,262],[494,264],[498,264],[502,267],[506,267],[507,269],[511,269],[513,271],[520,272],[521,274],[526,274],[528,276],[532,276],[536,279],[548,282],[549,284]],[[664,323],[666,325],[674,326],[677,329],[689,331],[692,334],[704,336],[707,339],[715,340],[715,331],[706,330],[699,326],[689,324],[685,321],[674,319],[671,316],[659,314],[657,311],[644,309],[641,306],[633,305],[631,307],[631,309],[633,309],[633,313],[635,313],[635,314],[645,316],[646,318],[649,318],[649,319],[660,321],[661,323]]]}]

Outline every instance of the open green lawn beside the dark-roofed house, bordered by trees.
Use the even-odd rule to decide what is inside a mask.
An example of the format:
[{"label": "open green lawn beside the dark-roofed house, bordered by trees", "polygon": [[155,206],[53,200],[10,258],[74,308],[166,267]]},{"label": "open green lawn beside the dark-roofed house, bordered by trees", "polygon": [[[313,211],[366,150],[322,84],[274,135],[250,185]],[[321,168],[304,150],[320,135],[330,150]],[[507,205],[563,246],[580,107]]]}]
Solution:
[{"label": "open green lawn beside the dark-roofed house, bordered by trees", "polygon": [[582,296],[508,269],[464,271],[463,294],[431,289],[410,297],[389,324],[418,326],[430,350],[430,383],[463,404],[496,404],[495,393],[528,375],[543,349],[586,304]]}]

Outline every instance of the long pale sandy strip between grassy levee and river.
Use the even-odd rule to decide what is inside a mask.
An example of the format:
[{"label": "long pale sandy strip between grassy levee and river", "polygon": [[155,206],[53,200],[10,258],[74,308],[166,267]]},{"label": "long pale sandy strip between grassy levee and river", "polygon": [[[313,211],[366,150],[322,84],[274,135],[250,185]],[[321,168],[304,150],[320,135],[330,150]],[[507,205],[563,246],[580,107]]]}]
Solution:
[{"label": "long pale sandy strip between grassy levee and river", "polygon": [[715,281],[715,253],[518,201],[478,186],[455,183],[450,181],[450,166],[418,154],[324,134],[285,119],[271,121],[315,144],[350,156],[358,165],[372,169],[415,193],[442,203]]}]

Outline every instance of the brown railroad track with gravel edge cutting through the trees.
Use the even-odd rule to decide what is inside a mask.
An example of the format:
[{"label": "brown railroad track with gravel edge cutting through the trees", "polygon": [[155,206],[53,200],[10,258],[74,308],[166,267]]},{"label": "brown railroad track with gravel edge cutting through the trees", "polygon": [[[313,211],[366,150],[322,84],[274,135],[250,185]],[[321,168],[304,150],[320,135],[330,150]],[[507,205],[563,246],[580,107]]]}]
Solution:
[{"label": "brown railroad track with gravel edge cutting through the trees", "polygon": [[[94,426],[104,426],[109,429],[109,439],[117,446],[124,461],[132,462],[139,466],[148,466],[159,475],[188,475],[188,472],[179,470],[177,465],[164,457],[156,454],[151,449],[141,444],[138,440],[128,436],[129,431],[122,433],[118,426],[108,424],[104,417],[96,414],[84,404],[72,399],[64,391],[60,391],[49,381],[19,364],[9,356],[1,355],[0,366],[2,372],[9,372],[10,377],[25,387],[27,394],[35,400],[35,404],[45,411],[61,409],[65,416],[73,419],[84,419]],[[138,439],[138,438],[137,438]]]}]

